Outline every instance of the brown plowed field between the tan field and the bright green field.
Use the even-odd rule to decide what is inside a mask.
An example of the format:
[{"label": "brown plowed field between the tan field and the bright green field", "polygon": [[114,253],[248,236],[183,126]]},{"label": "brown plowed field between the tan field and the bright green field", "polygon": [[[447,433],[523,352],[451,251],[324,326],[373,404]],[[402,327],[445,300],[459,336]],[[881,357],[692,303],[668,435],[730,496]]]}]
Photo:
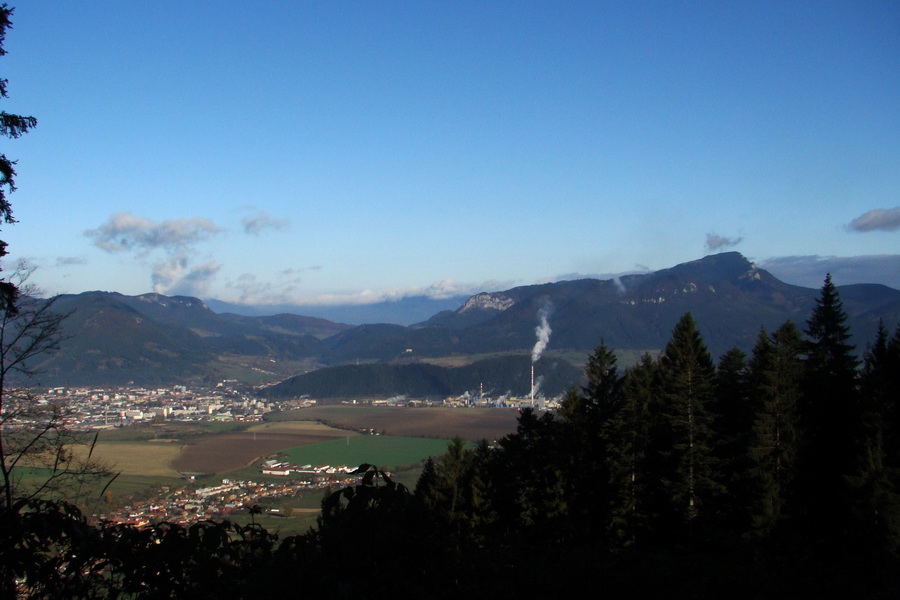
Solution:
[{"label": "brown plowed field between the tan field and the bright green field", "polygon": [[333,440],[334,435],[304,433],[259,433],[251,431],[223,433],[191,440],[172,468],[182,473],[221,473],[239,469],[256,458],[294,446],[318,444]]}]

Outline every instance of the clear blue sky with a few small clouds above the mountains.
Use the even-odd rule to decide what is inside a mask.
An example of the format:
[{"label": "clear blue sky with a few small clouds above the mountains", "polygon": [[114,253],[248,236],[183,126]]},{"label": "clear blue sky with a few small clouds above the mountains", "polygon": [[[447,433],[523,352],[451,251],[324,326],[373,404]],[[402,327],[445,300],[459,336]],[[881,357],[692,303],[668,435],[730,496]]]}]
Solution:
[{"label": "clear blue sky with a few small clouds above the mountains", "polygon": [[[900,288],[892,2],[13,3],[47,293],[474,293],[737,250]],[[874,211],[874,212],[873,212]]]}]

